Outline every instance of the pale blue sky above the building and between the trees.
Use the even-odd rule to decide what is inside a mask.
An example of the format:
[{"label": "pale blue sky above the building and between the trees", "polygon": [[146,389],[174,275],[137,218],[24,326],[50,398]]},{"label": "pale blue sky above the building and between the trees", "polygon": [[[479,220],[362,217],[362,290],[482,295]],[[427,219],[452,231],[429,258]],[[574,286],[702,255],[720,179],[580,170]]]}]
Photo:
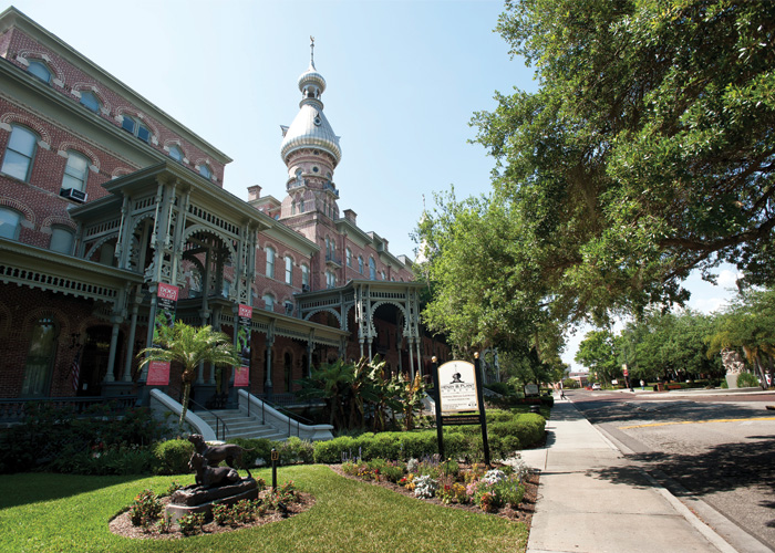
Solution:
[{"label": "pale blue sky above the building and between the trees", "polygon": [[[9,4],[6,4],[9,6]],[[18,9],[234,158],[225,188],[285,196],[280,125],[298,111],[297,79],[314,60],[326,115],[341,136],[340,210],[414,258],[423,196],[489,190],[493,159],[468,144],[495,91],[535,91],[493,29],[502,1],[18,0]],[[725,282],[725,285],[728,285]],[[722,286],[698,282],[707,311]],[[572,362],[577,334],[564,359]]]}]

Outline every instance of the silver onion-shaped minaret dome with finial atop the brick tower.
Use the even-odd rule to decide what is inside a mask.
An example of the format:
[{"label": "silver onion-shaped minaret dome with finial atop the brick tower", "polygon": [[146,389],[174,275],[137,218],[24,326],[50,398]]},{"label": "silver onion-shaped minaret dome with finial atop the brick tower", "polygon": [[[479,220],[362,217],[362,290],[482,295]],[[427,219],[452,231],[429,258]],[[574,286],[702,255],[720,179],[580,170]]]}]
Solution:
[{"label": "silver onion-shaped minaret dome with finial atop the brick tower", "polygon": [[[312,42],[314,48],[314,41]],[[312,51],[314,52],[314,50]],[[282,144],[280,155],[287,161],[288,156],[301,148],[316,148],[330,154],[337,166],[342,158],[342,149],[339,146],[339,136],[331,128],[323,114],[323,103],[320,96],[326,90],[326,80],[314,67],[314,56],[310,61],[309,69],[299,76],[299,113],[293,123],[282,128]]]}]

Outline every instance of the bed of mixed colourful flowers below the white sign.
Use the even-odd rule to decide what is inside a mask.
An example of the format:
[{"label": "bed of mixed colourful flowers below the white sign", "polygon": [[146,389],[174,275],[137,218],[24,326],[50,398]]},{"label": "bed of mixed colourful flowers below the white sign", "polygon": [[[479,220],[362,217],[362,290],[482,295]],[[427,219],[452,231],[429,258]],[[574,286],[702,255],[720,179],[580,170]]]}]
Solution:
[{"label": "bed of mixed colourful flowers below the white sign", "polygon": [[523,520],[533,512],[538,483],[537,476],[521,459],[487,469],[479,463],[461,466],[451,459],[440,461],[436,455],[405,463],[385,459],[347,461],[338,469],[351,478],[380,483],[418,499]]}]

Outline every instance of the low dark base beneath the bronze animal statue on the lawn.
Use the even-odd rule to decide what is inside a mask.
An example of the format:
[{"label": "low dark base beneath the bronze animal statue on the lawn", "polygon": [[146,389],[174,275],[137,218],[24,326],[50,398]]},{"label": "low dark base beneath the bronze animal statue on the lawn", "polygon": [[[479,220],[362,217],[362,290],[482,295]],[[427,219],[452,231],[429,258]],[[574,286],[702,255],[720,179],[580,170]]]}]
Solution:
[{"label": "low dark base beneath the bronze animal statue on the lawn", "polygon": [[208,488],[205,486],[187,486],[173,493],[166,514],[173,522],[190,513],[205,513],[205,520],[213,520],[214,504],[234,504],[244,499],[258,499],[258,483],[252,478],[229,484]]}]

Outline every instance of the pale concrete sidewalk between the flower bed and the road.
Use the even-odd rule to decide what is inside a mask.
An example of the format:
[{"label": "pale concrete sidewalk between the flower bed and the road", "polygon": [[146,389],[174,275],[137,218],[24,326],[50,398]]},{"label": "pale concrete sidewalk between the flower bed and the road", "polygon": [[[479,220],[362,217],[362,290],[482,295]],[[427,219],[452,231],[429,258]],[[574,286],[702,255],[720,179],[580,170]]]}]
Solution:
[{"label": "pale concrete sidewalk between the flower bed and the road", "polygon": [[527,553],[737,551],[569,400],[555,403],[547,432],[544,448],[521,452],[541,472]]}]

